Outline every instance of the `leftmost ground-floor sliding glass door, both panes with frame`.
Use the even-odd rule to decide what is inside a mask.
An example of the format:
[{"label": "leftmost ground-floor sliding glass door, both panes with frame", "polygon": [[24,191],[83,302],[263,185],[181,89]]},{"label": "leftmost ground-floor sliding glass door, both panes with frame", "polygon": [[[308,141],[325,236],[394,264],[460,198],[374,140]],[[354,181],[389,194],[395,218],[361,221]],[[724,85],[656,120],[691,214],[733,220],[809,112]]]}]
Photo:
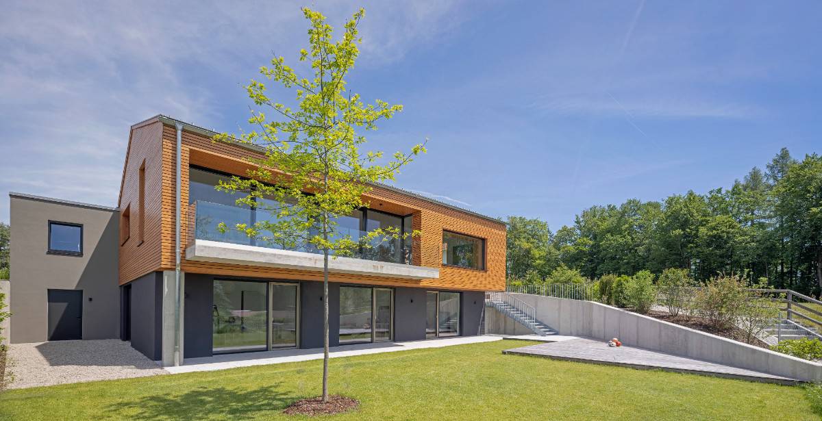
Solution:
[{"label": "leftmost ground-floor sliding glass door, both panes with frame", "polygon": [[214,280],[213,291],[215,354],[298,346],[298,284]]}]

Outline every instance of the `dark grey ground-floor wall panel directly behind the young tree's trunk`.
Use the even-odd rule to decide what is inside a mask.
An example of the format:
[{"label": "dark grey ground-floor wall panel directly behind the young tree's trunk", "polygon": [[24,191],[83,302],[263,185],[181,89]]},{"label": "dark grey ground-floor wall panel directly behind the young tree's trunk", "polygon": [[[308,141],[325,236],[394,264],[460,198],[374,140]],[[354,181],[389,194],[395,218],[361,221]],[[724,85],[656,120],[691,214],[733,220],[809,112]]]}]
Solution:
[{"label": "dark grey ground-floor wall panel directly behind the young tree's trunk", "polygon": [[[322,282],[300,285],[300,348],[322,348]],[[339,284],[328,284],[328,345],[339,345]]]}]

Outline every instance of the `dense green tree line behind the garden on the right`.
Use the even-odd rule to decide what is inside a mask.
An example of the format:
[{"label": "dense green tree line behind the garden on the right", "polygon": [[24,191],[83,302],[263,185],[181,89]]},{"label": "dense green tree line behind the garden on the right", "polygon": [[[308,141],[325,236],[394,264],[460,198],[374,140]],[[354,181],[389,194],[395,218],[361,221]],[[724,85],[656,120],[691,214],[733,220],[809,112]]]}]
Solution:
[{"label": "dense green tree line behind the garden on the right", "polygon": [[591,206],[552,232],[543,220],[507,219],[506,275],[526,284],[603,275],[689,271],[767,279],[778,289],[820,294],[822,156],[787,148],[730,188],[689,191],[663,201]]}]

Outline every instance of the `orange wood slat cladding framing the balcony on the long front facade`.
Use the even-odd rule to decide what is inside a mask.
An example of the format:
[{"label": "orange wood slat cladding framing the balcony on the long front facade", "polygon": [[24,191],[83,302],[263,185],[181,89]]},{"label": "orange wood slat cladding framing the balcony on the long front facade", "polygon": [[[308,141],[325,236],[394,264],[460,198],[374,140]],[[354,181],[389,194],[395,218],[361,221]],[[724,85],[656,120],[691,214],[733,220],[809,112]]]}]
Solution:
[{"label": "orange wood slat cladding framing the balcony on the long front facade", "polygon": [[[161,140],[157,142],[156,156],[162,164],[159,171],[150,166],[146,161],[146,183],[154,187],[155,180],[159,175],[162,178],[161,204],[157,207],[161,220],[156,225],[149,224],[146,220],[145,236],[146,243],[150,238],[150,233],[159,233],[161,242],[155,246],[159,252],[156,254],[155,271],[171,270],[174,267],[174,181],[175,181],[175,145],[177,132],[174,127],[162,127]],[[132,134],[134,136],[134,134]],[[130,149],[131,150],[131,149]],[[134,153],[132,150],[130,153]],[[210,263],[201,261],[186,261],[185,246],[187,238],[191,238],[189,232],[188,209],[188,170],[190,164],[195,164],[210,169],[217,169],[226,173],[246,175],[247,169],[253,168],[246,159],[249,156],[261,157],[252,150],[240,146],[233,146],[224,143],[215,143],[207,136],[196,133],[182,132],[182,154],[181,154],[181,190],[182,202],[182,271],[192,273],[205,273],[214,275],[234,275],[263,277],[286,280],[322,280],[321,272],[295,271],[271,268],[265,266],[242,266],[221,263]],[[136,173],[140,168],[141,159],[134,166],[133,176],[136,182]],[[132,159],[129,159],[131,168]],[[131,185],[129,185],[131,187]],[[131,193],[136,202],[135,190]],[[123,192],[123,197],[126,193]],[[152,194],[146,192],[146,202],[151,202]],[[331,274],[330,280],[337,282],[347,282],[353,284],[371,284],[386,286],[419,286],[431,289],[459,289],[459,290],[504,290],[505,289],[505,262],[506,262],[506,228],[501,222],[487,220],[467,212],[452,209],[448,206],[441,206],[419,197],[405,195],[401,192],[384,187],[374,187],[372,192],[364,197],[373,209],[386,210],[398,215],[413,215],[413,229],[423,232],[421,238],[413,239],[413,262],[420,266],[430,266],[440,268],[440,278],[432,280],[397,280],[395,278]],[[147,212],[146,215],[149,215]],[[132,209],[132,215],[136,215]],[[133,220],[133,216],[132,216]],[[132,222],[134,224],[134,222]],[[151,228],[150,228],[151,227]],[[136,227],[135,227],[136,228]],[[442,231],[443,229],[472,235],[486,239],[486,270],[477,271],[450,266],[442,266]],[[141,246],[145,247],[145,246]],[[122,255],[121,255],[122,257]],[[121,263],[122,265],[122,263]],[[121,282],[136,278],[137,270],[123,271],[121,269]],[[133,277],[132,277],[133,276]]]}]

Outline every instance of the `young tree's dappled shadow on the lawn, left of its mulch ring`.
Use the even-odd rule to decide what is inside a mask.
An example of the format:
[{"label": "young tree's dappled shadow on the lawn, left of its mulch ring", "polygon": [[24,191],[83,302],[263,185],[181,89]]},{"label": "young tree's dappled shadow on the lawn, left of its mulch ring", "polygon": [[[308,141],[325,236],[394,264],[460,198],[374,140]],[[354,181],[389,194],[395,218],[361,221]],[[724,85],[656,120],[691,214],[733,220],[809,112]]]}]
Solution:
[{"label": "young tree's dappled shadow on the lawn, left of its mulch ring", "polygon": [[182,395],[119,402],[109,407],[109,414],[122,414],[125,419],[249,419],[297,400],[278,389],[279,383],[253,390],[202,386]]}]

